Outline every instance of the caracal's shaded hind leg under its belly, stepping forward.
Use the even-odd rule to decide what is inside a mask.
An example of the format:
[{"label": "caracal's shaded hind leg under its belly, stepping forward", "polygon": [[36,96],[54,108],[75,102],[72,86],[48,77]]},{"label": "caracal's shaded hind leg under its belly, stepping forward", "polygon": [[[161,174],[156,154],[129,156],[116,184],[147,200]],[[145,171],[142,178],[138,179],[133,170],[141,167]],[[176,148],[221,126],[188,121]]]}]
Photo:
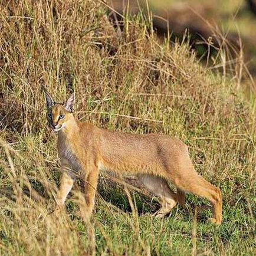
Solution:
[{"label": "caracal's shaded hind leg under its belly, stepping forward", "polygon": [[139,180],[149,191],[161,199],[161,207],[155,215],[165,216],[169,214],[172,208],[176,206],[178,196],[170,190],[166,180],[153,175],[140,175]]}]

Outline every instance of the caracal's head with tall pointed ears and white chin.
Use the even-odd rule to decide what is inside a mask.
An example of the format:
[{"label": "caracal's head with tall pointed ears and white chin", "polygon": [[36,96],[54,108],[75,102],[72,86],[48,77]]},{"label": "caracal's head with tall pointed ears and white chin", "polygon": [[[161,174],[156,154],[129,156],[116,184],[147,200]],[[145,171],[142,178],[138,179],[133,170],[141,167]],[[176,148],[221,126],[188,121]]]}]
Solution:
[{"label": "caracal's head with tall pointed ears and white chin", "polygon": [[73,119],[74,94],[62,103],[55,103],[50,94],[45,90],[45,100],[47,104],[47,120],[54,132],[59,132],[67,126]]}]

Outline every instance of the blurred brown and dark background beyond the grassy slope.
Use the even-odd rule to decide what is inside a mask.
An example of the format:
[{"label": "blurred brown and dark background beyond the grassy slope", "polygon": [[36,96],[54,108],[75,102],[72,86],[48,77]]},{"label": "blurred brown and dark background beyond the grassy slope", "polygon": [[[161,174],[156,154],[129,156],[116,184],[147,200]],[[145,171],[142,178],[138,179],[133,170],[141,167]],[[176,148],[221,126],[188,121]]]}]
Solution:
[{"label": "blurred brown and dark background beyond the grassy slope", "polygon": [[[163,1],[164,2],[164,1]],[[149,17],[147,6],[143,1],[114,0],[111,1],[109,8],[109,18],[113,26],[119,32],[123,32],[124,18],[127,15],[140,14],[145,20]],[[151,5],[150,5],[151,3]],[[219,6],[202,3],[201,1],[170,1],[165,6],[149,1],[149,11],[152,14],[152,25],[160,40],[165,40],[169,35],[170,41],[188,41],[191,49],[195,50],[197,57],[205,63],[211,62],[211,57],[218,54],[219,49],[225,49],[228,58],[236,59],[239,51],[244,52],[244,63],[252,77],[256,77],[256,34],[238,31],[238,29],[230,29],[235,24],[245,24],[242,21],[247,18],[251,21],[251,27],[256,24],[255,16],[255,0],[247,0],[234,13],[231,11],[224,12]],[[165,8],[169,6],[168,8]],[[242,21],[241,21],[242,20]],[[236,23],[235,23],[236,22]],[[231,25],[232,24],[232,25]],[[256,25],[254,26],[254,30]],[[185,36],[187,35],[187,36]],[[113,49],[112,49],[113,50]],[[255,78],[254,78],[255,80]]]}]

